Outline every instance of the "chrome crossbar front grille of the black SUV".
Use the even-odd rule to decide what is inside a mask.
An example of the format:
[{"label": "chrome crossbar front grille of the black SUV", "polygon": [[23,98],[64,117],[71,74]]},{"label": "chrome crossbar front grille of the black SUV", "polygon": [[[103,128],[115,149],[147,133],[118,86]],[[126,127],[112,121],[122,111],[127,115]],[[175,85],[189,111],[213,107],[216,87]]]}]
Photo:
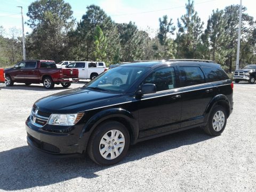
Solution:
[{"label": "chrome crossbar front grille of the black SUV", "polygon": [[33,107],[31,110],[30,120],[33,125],[43,127],[48,122],[50,116],[50,113],[45,113]]}]

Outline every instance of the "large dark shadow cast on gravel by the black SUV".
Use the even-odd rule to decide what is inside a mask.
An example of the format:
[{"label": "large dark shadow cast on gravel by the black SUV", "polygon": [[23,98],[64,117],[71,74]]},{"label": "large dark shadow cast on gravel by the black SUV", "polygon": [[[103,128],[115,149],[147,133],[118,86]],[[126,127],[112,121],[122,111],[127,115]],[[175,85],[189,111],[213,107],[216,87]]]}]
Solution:
[{"label": "large dark shadow cast on gravel by the black SUV", "polygon": [[117,165],[99,166],[86,158],[54,159],[33,153],[28,146],[0,152],[0,189],[21,190],[47,186],[70,179],[98,177],[97,172],[124,163],[211,139],[201,129],[174,133],[131,146]]}]

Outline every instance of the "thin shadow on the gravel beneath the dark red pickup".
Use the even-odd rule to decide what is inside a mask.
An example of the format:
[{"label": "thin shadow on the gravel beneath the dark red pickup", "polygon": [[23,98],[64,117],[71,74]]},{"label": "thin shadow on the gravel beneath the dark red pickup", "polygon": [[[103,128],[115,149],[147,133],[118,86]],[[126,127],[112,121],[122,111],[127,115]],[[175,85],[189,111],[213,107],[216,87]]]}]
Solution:
[{"label": "thin shadow on the gravel beneath the dark red pickup", "polygon": [[9,89],[9,90],[29,90],[29,91],[56,91],[56,90],[67,90],[72,89],[71,87],[54,87],[53,89],[45,89],[43,85],[13,85],[13,86],[5,86],[1,87],[1,89]]}]

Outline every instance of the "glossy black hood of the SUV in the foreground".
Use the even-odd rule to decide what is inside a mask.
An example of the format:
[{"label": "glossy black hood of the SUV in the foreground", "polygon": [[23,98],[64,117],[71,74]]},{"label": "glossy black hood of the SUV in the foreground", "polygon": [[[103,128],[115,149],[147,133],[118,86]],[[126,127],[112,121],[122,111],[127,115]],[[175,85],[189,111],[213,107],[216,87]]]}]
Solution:
[{"label": "glossy black hood of the SUV in the foreground", "polygon": [[87,90],[83,87],[71,89],[39,99],[36,107],[47,113],[77,113],[113,103],[121,94]]}]

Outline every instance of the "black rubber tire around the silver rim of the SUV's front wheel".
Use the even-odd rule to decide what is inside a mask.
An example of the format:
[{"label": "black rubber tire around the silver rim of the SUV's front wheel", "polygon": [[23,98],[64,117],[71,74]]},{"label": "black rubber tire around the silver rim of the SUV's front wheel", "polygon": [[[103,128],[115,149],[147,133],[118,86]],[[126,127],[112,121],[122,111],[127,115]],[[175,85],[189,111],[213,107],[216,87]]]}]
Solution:
[{"label": "black rubber tire around the silver rim of the SUV's front wheel", "polygon": [[[105,144],[106,146],[103,144],[103,147],[102,147],[102,144],[100,144],[100,142],[103,139],[103,136],[106,135],[107,133],[110,133],[111,130],[115,130],[114,134],[117,133],[116,132],[117,130],[123,134],[122,137],[121,137],[121,134],[118,135],[118,138],[124,137],[123,149],[120,149],[120,148],[114,149],[113,148],[113,147],[116,147],[116,145],[118,145],[118,143],[114,143],[114,142],[116,142],[116,141],[114,141],[115,138],[114,139],[111,138],[113,140],[111,140],[109,138],[111,140],[111,143],[110,143],[110,141],[106,142],[106,144]],[[119,139],[121,139],[121,138],[119,138]],[[109,146],[107,146],[107,145],[109,145]],[[110,146],[112,146],[112,147],[110,147]],[[88,142],[88,145],[87,145],[87,153],[90,156],[90,158],[92,159],[92,161],[94,161],[95,163],[97,163],[99,165],[113,165],[113,164],[116,164],[117,162],[121,161],[126,156],[129,146],[130,146],[130,135],[129,135],[129,132],[127,131],[126,127],[123,124],[116,122],[116,121],[107,121],[105,123],[100,124],[92,133],[90,140]],[[105,151],[105,147],[106,147],[105,154],[110,155],[110,156],[112,155],[111,151],[115,151],[116,149],[118,150],[118,153],[119,153],[119,150],[122,150],[122,151],[119,154],[119,156],[117,156],[113,159],[107,159],[110,157],[108,157],[108,156],[106,158],[103,157],[100,153],[100,147],[102,147],[102,149],[104,149],[104,151]],[[116,152],[112,152],[112,153],[114,156],[116,156]]]}]

